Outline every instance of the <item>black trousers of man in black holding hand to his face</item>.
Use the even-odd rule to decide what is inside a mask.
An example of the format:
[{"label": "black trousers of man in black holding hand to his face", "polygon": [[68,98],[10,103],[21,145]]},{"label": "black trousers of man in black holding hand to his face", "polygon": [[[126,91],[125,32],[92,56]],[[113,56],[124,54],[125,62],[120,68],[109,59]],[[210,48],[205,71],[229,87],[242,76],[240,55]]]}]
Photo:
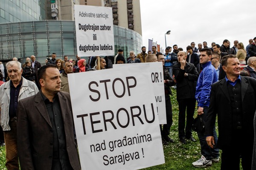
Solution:
[{"label": "black trousers of man in black holding hand to his face", "polygon": [[195,99],[178,99],[177,101],[179,104],[179,138],[190,138],[190,136],[192,136],[192,123],[194,120],[193,116],[195,112]]}]

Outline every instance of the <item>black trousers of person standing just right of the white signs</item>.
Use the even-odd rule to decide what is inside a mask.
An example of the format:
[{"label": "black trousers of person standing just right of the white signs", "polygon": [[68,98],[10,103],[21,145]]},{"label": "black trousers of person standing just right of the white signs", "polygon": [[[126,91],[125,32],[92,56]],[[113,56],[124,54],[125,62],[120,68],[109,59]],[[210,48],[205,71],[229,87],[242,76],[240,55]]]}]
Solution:
[{"label": "black trousers of person standing just right of the white signs", "polygon": [[172,103],[169,95],[165,96],[166,98],[166,124],[163,125],[163,130],[160,125],[160,131],[162,138],[168,137],[170,134],[170,128],[172,126]]}]

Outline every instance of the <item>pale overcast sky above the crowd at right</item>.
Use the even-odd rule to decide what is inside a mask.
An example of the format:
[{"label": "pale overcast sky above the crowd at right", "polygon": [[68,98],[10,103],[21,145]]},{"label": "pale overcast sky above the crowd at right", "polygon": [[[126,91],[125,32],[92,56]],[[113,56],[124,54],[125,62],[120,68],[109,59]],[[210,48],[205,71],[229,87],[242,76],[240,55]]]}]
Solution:
[{"label": "pale overcast sky above the crowd at right", "polygon": [[148,39],[165,48],[186,49],[195,42],[222,45],[224,39],[248,45],[256,37],[256,0],[140,0],[143,45]]}]

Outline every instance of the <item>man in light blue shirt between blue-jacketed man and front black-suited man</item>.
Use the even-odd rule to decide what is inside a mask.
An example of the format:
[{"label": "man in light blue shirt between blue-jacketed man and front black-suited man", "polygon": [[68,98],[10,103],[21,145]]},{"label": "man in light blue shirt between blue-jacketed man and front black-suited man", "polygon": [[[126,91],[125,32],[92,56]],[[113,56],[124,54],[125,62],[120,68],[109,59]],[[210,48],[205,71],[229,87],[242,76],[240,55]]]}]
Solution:
[{"label": "man in light blue shirt between blue-jacketed man and front black-suited man", "polygon": [[226,73],[225,73],[225,71],[223,70],[222,65],[221,65],[221,63],[220,63],[220,61],[221,61],[221,55],[220,55],[218,52],[213,51],[213,52],[212,52],[211,61],[212,61],[212,65],[214,66],[214,68],[215,68],[215,70],[216,70],[216,72],[217,72],[218,80],[224,79],[225,76],[226,76]]}]

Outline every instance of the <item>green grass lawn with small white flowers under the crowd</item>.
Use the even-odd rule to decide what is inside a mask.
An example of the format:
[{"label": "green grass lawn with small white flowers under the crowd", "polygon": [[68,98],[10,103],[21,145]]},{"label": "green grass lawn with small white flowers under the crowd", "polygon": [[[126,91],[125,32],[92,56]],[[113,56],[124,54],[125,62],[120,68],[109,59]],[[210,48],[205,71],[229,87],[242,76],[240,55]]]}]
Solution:
[{"label": "green grass lawn with small white flowers under the crowd", "polygon": [[[213,163],[211,167],[196,168],[192,166],[192,162],[198,160],[201,157],[200,144],[197,133],[193,132],[193,137],[197,142],[188,141],[186,144],[181,144],[178,138],[178,103],[176,100],[176,91],[172,89],[172,113],[173,124],[171,127],[170,137],[175,140],[175,143],[163,146],[165,164],[157,165],[154,167],[148,167],[144,170],[220,170],[221,160],[218,163]],[[196,113],[194,117],[196,117]],[[218,133],[218,126],[216,126]],[[240,168],[241,169],[241,168]],[[5,167],[5,147],[0,147],[0,170],[6,170]]]}]

